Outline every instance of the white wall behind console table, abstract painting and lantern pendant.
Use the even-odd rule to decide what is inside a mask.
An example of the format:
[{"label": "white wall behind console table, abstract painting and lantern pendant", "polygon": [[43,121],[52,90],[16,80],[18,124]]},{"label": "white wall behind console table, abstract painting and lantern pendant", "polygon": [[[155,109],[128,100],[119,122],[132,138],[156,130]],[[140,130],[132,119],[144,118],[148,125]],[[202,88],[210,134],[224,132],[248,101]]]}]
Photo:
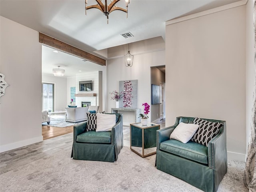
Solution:
[{"label": "white wall behind console table, abstract painting and lantern pendant", "polygon": [[[107,112],[116,108],[116,102],[111,100],[110,92],[119,90],[119,81],[138,80],[138,108],[143,113],[142,103],[147,102],[151,106],[151,66],[165,64],[164,41],[162,38],[152,38],[130,44],[130,53],[134,55],[132,67],[124,64],[124,54],[128,45],[117,46],[108,49],[107,62]],[[149,118],[151,121],[151,118]],[[124,125],[134,123],[134,114],[124,112]]]}]

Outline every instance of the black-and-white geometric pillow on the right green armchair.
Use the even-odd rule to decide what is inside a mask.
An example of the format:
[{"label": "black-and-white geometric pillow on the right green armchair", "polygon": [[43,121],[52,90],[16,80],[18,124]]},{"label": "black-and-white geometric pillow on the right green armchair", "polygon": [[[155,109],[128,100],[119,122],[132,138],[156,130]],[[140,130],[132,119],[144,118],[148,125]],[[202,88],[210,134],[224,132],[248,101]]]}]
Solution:
[{"label": "black-and-white geometric pillow on the right green armchair", "polygon": [[191,140],[204,146],[208,146],[210,140],[219,133],[223,125],[222,123],[206,121],[197,117],[194,119],[193,124],[199,125],[199,128]]}]

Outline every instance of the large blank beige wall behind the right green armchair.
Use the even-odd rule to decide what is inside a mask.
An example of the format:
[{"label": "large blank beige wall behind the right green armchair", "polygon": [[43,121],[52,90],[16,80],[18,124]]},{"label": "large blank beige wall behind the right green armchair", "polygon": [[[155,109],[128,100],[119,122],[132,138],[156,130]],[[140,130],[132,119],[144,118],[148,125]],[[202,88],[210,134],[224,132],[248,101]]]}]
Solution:
[{"label": "large blank beige wall behind the right green armchair", "polygon": [[246,7],[166,26],[166,126],[177,116],[227,122],[228,158],[244,160]]}]

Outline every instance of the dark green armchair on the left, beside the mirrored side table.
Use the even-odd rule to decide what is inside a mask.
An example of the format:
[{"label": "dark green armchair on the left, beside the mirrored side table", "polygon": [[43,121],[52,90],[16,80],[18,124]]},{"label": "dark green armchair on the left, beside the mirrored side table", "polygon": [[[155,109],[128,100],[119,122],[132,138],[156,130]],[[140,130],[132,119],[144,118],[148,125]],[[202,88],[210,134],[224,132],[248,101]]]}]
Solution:
[{"label": "dark green armchair on the left, beside the mirrored side table", "polygon": [[74,126],[71,157],[75,160],[114,162],[123,148],[123,116],[116,114],[111,131],[86,132],[87,122]]}]

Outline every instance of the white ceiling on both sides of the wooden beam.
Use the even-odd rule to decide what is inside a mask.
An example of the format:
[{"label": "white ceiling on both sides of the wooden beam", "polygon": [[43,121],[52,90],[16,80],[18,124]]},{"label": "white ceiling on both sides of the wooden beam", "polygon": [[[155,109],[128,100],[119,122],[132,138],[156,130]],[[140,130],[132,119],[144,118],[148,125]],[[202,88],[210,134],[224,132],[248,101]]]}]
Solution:
[{"label": "white ceiling on both sides of the wooden beam", "polygon": [[[130,0],[128,18],[126,13],[114,11],[109,15],[109,24],[106,16],[98,9],[87,10],[85,15],[84,0],[0,0],[0,15],[96,54],[96,50],[158,36],[165,39],[167,20],[237,1],[239,0]],[[92,4],[96,4],[96,1],[88,0],[88,6]],[[124,0],[116,5],[125,8]],[[130,32],[133,37],[124,38],[120,35],[126,32]],[[68,62],[64,60],[64,56],[56,57],[60,52],[55,54],[48,49],[43,48],[43,57],[48,57],[42,58],[43,72],[50,73],[52,67],[58,65],[66,67],[67,75],[68,71],[78,70],[80,58],[78,66],[74,67],[71,63],[76,61]],[[72,58],[76,60],[76,57]],[[82,62],[83,65],[85,63]],[[80,70],[86,68],[88,70],[88,66]]]}]

